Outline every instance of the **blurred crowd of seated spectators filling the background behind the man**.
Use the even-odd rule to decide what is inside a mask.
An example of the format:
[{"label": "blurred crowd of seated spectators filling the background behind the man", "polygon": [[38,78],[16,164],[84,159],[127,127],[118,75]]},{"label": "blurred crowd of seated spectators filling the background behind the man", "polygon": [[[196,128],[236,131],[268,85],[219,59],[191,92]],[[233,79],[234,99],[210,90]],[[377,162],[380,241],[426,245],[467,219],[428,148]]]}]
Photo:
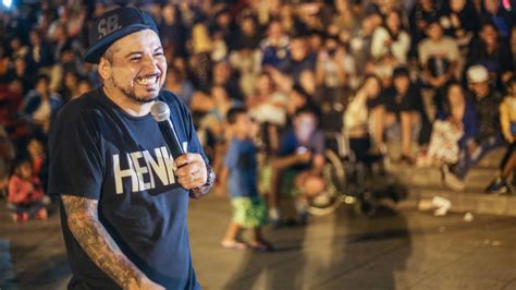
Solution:
[{"label": "blurred crowd of seated spectators filling the background behind the man", "polygon": [[[47,216],[46,136],[62,106],[101,85],[96,67],[82,56],[93,20],[118,2],[0,8],[0,185],[8,189],[14,220]],[[158,23],[169,65],[165,88],[191,108],[216,172],[231,183],[248,179],[232,176],[237,170],[259,168],[249,171],[259,176],[256,190],[231,193],[241,204],[235,208],[268,208],[267,216],[279,221],[280,193],[288,192],[303,221],[306,200],[325,186],[324,132],[342,133],[357,161],[389,156],[386,141],[398,138],[395,161],[439,166],[453,190],[464,190],[468,169],[487,153],[505,147],[500,176],[487,192],[512,190],[515,1],[132,4]],[[254,133],[238,131],[236,141],[236,117],[228,117],[235,108],[256,126],[248,129]],[[224,186],[219,182],[217,191]],[[256,192],[267,194],[267,205],[238,202]],[[255,212],[259,217],[250,223],[258,227],[262,214]],[[232,230],[223,242],[241,246]]]}]

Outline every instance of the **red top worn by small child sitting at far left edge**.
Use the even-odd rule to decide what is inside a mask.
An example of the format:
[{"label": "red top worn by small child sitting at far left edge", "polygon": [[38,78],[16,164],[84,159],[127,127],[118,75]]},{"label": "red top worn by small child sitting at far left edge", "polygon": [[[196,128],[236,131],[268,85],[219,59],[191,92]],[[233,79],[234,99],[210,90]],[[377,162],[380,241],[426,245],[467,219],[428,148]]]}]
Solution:
[{"label": "red top worn by small child sitting at far left edge", "polygon": [[27,181],[17,176],[12,176],[9,180],[8,201],[16,205],[26,205],[41,201],[45,196],[39,178],[34,177]]}]

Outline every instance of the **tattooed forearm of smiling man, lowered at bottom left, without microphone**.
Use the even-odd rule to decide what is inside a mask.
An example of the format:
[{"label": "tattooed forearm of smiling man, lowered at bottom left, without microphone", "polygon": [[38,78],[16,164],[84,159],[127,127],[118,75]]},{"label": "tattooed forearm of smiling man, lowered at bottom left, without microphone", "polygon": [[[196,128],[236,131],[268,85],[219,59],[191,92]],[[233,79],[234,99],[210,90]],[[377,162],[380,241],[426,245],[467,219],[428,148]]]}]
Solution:
[{"label": "tattooed forearm of smiling man, lowered at bottom left, without microphone", "polygon": [[98,201],[62,195],[67,225],[89,258],[123,289],[138,286],[144,274],[122,253],[98,219]]}]

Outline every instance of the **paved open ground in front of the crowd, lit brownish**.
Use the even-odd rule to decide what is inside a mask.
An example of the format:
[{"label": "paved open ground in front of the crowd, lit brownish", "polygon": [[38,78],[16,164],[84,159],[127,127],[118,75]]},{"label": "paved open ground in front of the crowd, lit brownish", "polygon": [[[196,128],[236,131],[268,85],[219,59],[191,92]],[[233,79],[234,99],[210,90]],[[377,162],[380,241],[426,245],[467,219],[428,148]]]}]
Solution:
[{"label": "paved open ground in front of the crowd, lit brownish", "polygon": [[[218,246],[229,210],[217,197],[191,206],[205,289],[516,289],[515,218],[413,209],[364,218],[343,207],[308,227],[267,229],[279,251],[254,253]],[[0,213],[0,289],[64,289],[69,278],[56,215],[15,225]]]}]

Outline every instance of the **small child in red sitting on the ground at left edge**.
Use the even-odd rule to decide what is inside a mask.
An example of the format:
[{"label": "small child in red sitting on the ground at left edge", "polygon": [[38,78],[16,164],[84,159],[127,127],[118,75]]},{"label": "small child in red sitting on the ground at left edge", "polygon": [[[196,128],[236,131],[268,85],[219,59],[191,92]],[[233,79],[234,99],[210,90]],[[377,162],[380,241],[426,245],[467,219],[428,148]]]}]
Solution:
[{"label": "small child in red sitting on the ground at left edge", "polygon": [[14,173],[9,180],[8,207],[14,221],[29,218],[47,219],[50,198],[45,195],[39,178],[33,174],[30,161],[20,159],[14,164]]}]

